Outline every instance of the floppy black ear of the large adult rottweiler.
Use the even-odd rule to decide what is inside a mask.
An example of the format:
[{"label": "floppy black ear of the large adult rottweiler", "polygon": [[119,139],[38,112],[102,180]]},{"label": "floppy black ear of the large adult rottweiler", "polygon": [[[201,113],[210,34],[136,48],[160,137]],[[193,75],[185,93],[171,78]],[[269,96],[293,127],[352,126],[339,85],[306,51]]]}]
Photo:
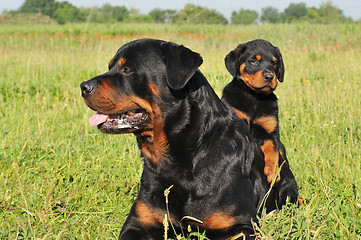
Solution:
[{"label": "floppy black ear of the large adult rottweiler", "polygon": [[180,90],[203,63],[203,59],[199,53],[172,42],[163,43],[161,49],[167,66],[168,85]]}]

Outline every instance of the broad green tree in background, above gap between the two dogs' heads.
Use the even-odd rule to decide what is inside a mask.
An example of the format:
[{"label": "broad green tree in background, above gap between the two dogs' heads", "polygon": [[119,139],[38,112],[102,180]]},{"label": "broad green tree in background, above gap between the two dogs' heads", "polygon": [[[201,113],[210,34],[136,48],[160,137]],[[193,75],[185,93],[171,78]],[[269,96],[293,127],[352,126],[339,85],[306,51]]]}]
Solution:
[{"label": "broad green tree in background, above gap between the two dogs' heads", "polygon": [[227,19],[216,10],[187,4],[179,14],[179,22],[190,24],[228,24]]}]

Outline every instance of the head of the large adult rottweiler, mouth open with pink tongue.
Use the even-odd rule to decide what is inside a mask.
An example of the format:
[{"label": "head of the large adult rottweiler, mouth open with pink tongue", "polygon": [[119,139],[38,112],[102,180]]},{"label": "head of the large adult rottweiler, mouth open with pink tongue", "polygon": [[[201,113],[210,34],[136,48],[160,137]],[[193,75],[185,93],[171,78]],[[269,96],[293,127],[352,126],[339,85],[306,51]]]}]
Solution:
[{"label": "head of the large adult rottweiler, mouth open with pink tongue", "polygon": [[109,71],[81,83],[89,119],[105,133],[162,128],[170,92],[182,89],[202,64],[198,53],[171,42],[140,39],[123,45]]}]

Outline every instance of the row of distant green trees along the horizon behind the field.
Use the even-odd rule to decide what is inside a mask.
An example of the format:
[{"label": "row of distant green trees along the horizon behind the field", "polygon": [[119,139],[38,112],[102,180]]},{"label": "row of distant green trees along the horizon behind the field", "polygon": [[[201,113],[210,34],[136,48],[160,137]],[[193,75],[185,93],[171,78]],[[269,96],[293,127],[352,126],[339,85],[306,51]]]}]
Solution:
[{"label": "row of distant green trees along the horizon behind the field", "polygon": [[140,14],[139,10],[124,6],[77,8],[69,2],[56,0],[25,0],[23,5],[12,13],[41,13],[56,20],[60,24],[66,22],[156,22],[187,24],[258,24],[258,23],[291,23],[307,21],[311,23],[353,22],[343,15],[342,10],[331,1],[322,3],[319,8],[307,7],[306,3],[291,3],[283,12],[274,7],[265,7],[259,14],[254,10],[240,9],[234,11],[230,21],[216,10],[187,4],[182,10],[154,9],[148,14]]}]

